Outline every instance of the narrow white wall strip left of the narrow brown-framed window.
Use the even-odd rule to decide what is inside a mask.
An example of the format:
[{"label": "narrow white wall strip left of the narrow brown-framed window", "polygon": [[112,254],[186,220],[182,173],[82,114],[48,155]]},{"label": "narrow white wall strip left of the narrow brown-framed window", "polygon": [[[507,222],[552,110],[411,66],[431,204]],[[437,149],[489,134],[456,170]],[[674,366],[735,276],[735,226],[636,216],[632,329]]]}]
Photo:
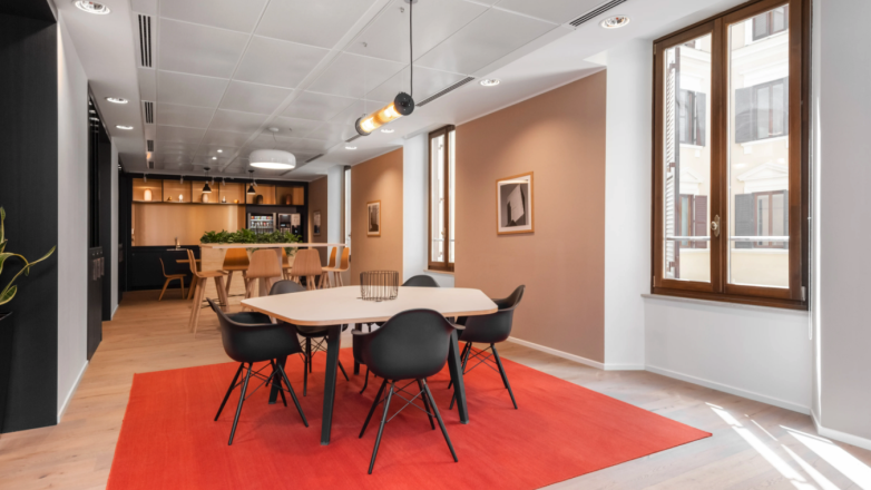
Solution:
[{"label": "narrow white wall strip left of the narrow brown-framed window", "polygon": [[427,272],[429,223],[429,135],[409,138],[402,145],[402,280],[428,275],[442,287],[453,287],[452,274]]}]

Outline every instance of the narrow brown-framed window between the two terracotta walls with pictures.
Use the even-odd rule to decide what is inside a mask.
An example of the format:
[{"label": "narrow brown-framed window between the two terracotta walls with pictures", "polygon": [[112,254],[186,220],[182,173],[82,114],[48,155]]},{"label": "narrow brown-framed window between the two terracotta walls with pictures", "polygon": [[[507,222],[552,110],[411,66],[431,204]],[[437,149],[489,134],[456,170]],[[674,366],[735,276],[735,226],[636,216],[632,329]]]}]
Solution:
[{"label": "narrow brown-framed window between the two terracotta walls with pictures", "polygon": [[453,271],[454,263],[453,126],[430,133],[429,268]]}]

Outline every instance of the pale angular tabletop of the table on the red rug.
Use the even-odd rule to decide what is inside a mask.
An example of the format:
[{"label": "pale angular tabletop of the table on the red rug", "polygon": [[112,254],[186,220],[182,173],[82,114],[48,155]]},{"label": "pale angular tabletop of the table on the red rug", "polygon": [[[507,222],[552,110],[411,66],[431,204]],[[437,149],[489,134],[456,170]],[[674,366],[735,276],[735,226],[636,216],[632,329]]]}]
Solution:
[{"label": "pale angular tabletop of the table on the red rug", "polygon": [[434,310],[444,316],[496,313],[498,307],[480,290],[462,287],[402,287],[395,300],[360,300],[360,286],[332,287],[275,296],[252,297],[242,304],[294,325],[335,325],[386,322],[407,310]]}]

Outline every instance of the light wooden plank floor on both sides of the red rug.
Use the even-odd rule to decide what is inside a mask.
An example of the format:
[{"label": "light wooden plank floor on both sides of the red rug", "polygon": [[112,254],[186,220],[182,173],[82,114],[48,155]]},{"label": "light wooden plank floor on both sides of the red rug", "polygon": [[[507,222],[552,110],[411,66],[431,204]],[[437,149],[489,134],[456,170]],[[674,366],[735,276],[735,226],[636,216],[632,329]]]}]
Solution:
[{"label": "light wooden plank floor on both sides of the red rug", "polygon": [[[234,286],[233,293],[242,292],[241,284]],[[115,320],[104,324],[102,344],[60,424],[0,435],[0,489],[105,488],[133,374],[227,362],[215,315],[203,312],[194,339],[187,331],[190,303],[179,300],[178,291],[158,303],[158,293],[125,294]],[[231,298],[234,310],[238,301]],[[499,350],[516,362],[714,434],[552,489],[859,489],[839,471],[851,459],[858,468],[853,478],[871,474],[871,451],[820,442],[834,454],[825,460],[800,441],[801,434],[785,429],[815,434],[808,415],[648,372],[598,371],[511,343]],[[522,410],[523,401],[518,404]],[[869,488],[871,478],[862,482]]]}]

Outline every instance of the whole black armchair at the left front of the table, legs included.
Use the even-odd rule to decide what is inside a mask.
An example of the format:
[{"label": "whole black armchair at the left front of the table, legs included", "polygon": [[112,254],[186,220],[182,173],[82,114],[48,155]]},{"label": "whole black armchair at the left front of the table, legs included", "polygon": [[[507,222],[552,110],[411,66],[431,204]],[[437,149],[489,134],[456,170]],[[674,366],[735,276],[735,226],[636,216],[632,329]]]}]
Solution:
[{"label": "whole black armchair at the left front of the table, legs included", "polygon": [[[206,298],[206,301],[208,301],[212,310],[218,315],[218,322],[221,323],[221,339],[224,343],[224,351],[231,359],[239,363],[239,369],[236,370],[236,375],[233,376],[233,381],[229,383],[227,394],[224,395],[224,401],[221,402],[218,412],[215,415],[215,421],[217,421],[221,416],[221,412],[224,410],[224,405],[227,403],[229,394],[236,386],[238,386],[237,381],[239,374],[242,374],[242,370],[245,369],[245,364],[248,365],[248,370],[245,373],[245,380],[242,382],[239,404],[236,408],[236,418],[233,419],[233,429],[229,431],[229,442],[227,445],[233,444],[233,437],[236,434],[236,424],[238,423],[239,414],[242,413],[242,404],[245,402],[245,395],[247,394],[248,390],[248,381],[251,380],[252,374],[254,374],[255,378],[264,380],[261,385],[267,384],[273,380],[273,378],[278,378],[277,383],[282,399],[284,400],[284,389],[281,386],[281,382],[283,380],[287,385],[287,391],[291,393],[291,398],[293,398],[293,402],[296,404],[296,410],[300,412],[300,416],[303,419],[303,423],[305,427],[309,427],[309,421],[305,420],[303,409],[300,406],[300,401],[296,399],[296,393],[293,391],[293,386],[291,385],[291,381],[287,379],[287,374],[284,372],[284,367],[282,367],[280,363],[275,362],[276,359],[296,354],[302,351],[300,347],[300,341],[296,337],[296,329],[293,325],[284,322],[272,323],[268,321],[268,317],[266,323],[239,323],[224,313],[221,310],[221,306],[215,304],[214,301],[208,298]],[[238,315],[235,315],[234,317],[238,317]],[[270,361],[268,366],[272,366],[272,374],[268,376],[261,374],[261,371],[263,371],[266,366],[252,373],[254,363],[263,361]],[[254,391],[257,391],[257,389],[254,389]],[[254,393],[254,391],[252,393]],[[285,406],[287,405],[286,400],[284,400],[284,404]]]}]

